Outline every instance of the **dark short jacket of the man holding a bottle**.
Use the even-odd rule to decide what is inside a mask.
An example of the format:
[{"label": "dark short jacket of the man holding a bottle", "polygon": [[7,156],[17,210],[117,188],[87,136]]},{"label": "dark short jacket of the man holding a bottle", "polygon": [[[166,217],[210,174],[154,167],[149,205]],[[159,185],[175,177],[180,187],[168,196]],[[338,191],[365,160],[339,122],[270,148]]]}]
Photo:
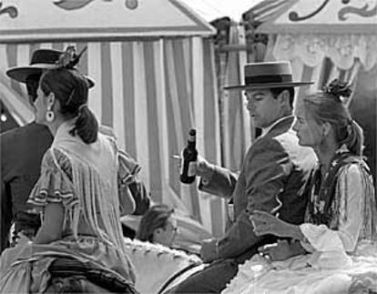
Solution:
[{"label": "dark short jacket of the man holding a bottle", "polygon": [[283,118],[248,149],[239,177],[216,167],[202,190],[233,202],[233,219],[219,238],[219,259],[243,262],[256,249],[269,243],[257,237],[249,220],[254,209],[279,214],[292,224],[301,224],[307,198],[305,188],[317,158],[310,147],[301,147],[290,130],[293,117]]}]

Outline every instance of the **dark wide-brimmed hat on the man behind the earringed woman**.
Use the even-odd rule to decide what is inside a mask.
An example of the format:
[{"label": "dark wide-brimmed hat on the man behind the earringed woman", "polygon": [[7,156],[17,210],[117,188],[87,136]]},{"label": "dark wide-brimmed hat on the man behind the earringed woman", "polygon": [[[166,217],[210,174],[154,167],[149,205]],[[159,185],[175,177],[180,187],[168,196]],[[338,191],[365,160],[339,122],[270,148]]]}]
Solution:
[{"label": "dark wide-brimmed hat on the man behind the earringed woman", "polygon": [[[38,49],[33,53],[30,66],[15,66],[6,71],[6,75],[20,83],[26,83],[27,76],[42,75],[44,69],[56,68],[56,61],[63,54],[63,51],[53,49]],[[95,82],[87,77],[89,87],[95,86]]]}]

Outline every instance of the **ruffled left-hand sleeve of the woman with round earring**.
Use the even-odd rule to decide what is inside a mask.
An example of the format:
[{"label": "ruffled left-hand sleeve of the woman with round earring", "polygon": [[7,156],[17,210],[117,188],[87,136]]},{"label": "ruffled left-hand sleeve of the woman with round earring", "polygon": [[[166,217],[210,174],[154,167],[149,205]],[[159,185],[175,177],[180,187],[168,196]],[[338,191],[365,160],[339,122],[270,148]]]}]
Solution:
[{"label": "ruffled left-hand sleeve of the woman with round earring", "polygon": [[41,176],[30,193],[28,203],[43,210],[50,202],[61,202],[65,208],[78,203],[72,184],[69,159],[57,149],[48,149],[42,160]]}]

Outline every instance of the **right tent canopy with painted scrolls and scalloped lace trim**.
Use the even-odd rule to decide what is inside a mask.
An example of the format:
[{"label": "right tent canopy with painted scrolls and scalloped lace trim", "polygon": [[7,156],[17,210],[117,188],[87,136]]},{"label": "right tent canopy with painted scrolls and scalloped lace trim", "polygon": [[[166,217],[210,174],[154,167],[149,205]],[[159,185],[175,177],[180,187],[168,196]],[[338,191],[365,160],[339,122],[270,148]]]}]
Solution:
[{"label": "right tent canopy with painted scrolls and scalloped lace trim", "polygon": [[341,70],[377,63],[377,0],[264,0],[248,14],[261,23],[257,33],[270,34],[276,59],[319,66],[328,57]]}]

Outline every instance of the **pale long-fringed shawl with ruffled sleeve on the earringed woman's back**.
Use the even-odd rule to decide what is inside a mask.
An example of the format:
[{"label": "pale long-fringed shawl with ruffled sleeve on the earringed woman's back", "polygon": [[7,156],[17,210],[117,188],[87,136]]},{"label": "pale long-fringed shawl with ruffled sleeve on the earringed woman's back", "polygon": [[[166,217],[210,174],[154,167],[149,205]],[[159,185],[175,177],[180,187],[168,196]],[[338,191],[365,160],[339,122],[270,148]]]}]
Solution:
[{"label": "pale long-fringed shawl with ruffled sleeve on the earringed woman's back", "polygon": [[120,177],[129,181],[127,165],[118,164],[113,138],[98,134],[97,141],[87,145],[80,137],[68,134],[72,127],[72,122],[66,122],[58,128],[29,202],[42,208],[49,201],[62,202],[66,211],[64,229],[77,237],[78,223],[84,218],[97,238],[125,252],[117,179],[120,166],[124,173]]}]

